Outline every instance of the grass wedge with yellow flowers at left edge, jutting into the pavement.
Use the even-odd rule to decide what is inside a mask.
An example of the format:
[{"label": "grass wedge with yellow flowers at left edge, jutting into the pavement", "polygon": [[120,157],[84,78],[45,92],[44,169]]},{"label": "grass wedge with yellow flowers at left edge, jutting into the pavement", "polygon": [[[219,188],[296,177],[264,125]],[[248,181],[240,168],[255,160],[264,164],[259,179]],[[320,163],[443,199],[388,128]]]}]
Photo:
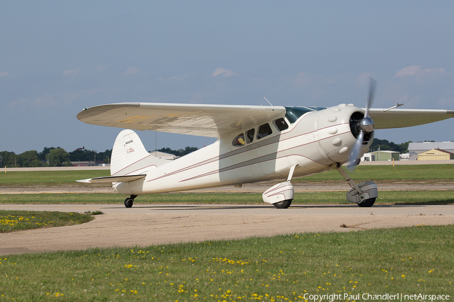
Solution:
[{"label": "grass wedge with yellow flowers at left edge, jutting into the pavement", "polygon": [[76,212],[34,212],[0,210],[0,233],[80,224],[92,220]]}]

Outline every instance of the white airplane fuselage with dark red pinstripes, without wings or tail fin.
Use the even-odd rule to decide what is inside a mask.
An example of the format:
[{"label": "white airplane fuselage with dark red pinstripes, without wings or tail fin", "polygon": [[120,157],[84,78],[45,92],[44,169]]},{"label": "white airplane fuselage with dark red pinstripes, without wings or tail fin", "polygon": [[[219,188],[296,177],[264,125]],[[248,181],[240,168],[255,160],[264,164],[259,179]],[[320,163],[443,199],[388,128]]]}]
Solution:
[{"label": "white airplane fuselage with dark red pinstripes, without wings or tail fin", "polygon": [[350,160],[356,142],[350,119],[355,112],[362,110],[345,104],[307,112],[294,123],[286,118],[288,128],[281,131],[276,120],[269,121],[272,133],[261,138],[261,125],[252,125],[250,132],[257,135],[249,141],[235,142],[248,131],[232,132],[175,161],[134,170],[131,173],[146,177],[114,187],[125,195],[141,195],[286,179],[292,166],[296,166],[294,177],[330,170],[333,164]]}]

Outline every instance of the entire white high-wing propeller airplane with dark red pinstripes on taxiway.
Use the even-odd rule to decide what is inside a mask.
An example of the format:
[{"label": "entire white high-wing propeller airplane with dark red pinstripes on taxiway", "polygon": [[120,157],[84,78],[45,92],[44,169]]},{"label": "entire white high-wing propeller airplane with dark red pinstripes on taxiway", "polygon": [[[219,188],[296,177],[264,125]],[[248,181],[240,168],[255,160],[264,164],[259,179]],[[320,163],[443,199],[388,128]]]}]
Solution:
[{"label": "entire white high-wing propeller airplane with dark red pinstripes on taxiway", "polygon": [[[374,81],[366,108],[281,107],[117,103],[85,108],[85,123],[126,128],[113,144],[110,177],[80,180],[112,183],[130,195],[131,207],[141,194],[202,189],[283,179],[266,190],[263,201],[288,208],[294,199],[291,183],[336,169],[350,184],[347,200],[370,207],[378,197],[372,181],[355,182],[341,168],[357,165],[374,138],[374,129],[410,127],[454,117],[454,110],[371,109]],[[175,161],[150,155],[132,130],[152,130],[217,137],[211,145]]]}]

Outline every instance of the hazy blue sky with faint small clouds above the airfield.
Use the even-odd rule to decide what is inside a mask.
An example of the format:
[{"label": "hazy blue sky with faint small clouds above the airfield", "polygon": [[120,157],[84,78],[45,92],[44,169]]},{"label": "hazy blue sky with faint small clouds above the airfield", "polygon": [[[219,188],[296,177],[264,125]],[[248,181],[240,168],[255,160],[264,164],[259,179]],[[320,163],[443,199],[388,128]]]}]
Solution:
[{"label": "hazy blue sky with faint small clouds above the airfield", "polygon": [[[84,124],[118,102],[454,109],[454,2],[4,1],[0,150],[110,149]],[[378,130],[396,143],[454,140],[454,119]],[[205,137],[138,132],[147,149]]]}]

